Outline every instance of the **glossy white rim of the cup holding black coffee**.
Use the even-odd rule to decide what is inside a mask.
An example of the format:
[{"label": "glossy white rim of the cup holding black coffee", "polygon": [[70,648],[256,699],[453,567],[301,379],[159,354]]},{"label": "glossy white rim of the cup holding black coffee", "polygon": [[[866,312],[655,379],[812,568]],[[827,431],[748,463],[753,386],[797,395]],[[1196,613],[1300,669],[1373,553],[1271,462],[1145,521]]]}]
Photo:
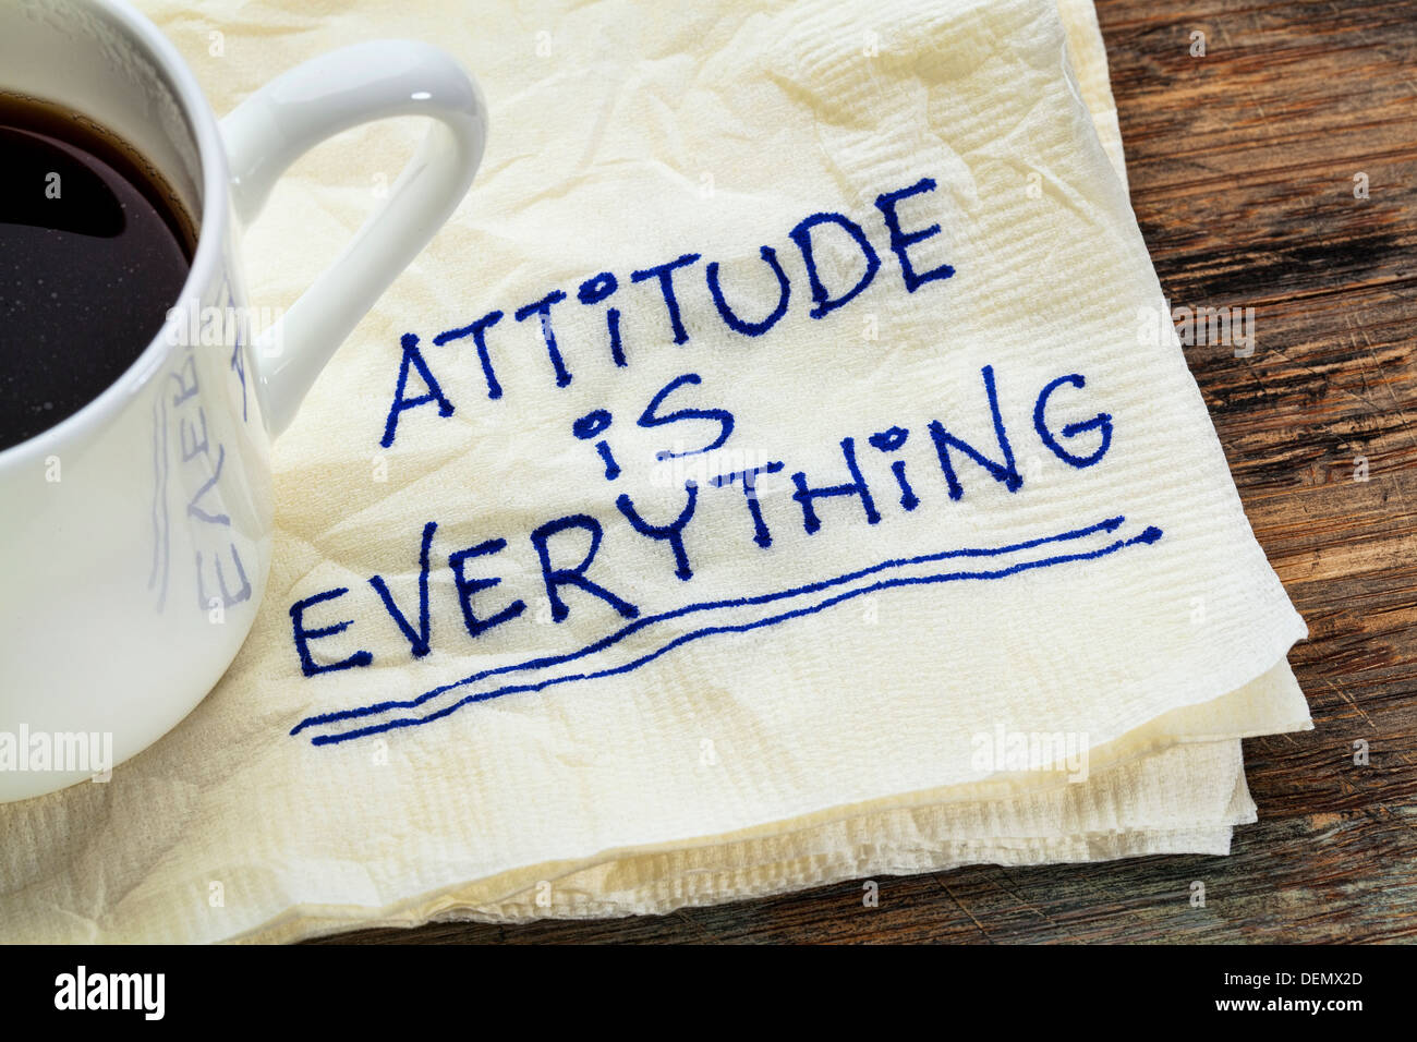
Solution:
[{"label": "glossy white rim of the cup holding black coffee", "polygon": [[186,306],[200,299],[213,265],[227,240],[227,150],[215,113],[197,84],[187,62],[170,40],[128,0],[79,0],[109,14],[128,31],[171,81],[176,101],[197,139],[197,162],[201,164],[201,217],[197,228],[197,248],[177,299],[167,310],[162,327],[123,373],[82,408],[48,427],[33,438],[0,449],[0,471],[35,462],[57,445],[91,430],[119,413],[162,369],[173,344],[174,325],[187,322]]}]

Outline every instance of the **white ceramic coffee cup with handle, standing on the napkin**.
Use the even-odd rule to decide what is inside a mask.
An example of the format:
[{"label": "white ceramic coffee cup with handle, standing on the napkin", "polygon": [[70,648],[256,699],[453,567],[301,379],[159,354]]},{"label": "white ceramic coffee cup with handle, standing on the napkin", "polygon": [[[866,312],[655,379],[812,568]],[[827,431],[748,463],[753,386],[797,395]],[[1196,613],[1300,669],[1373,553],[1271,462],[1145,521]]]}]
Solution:
[{"label": "white ceramic coffee cup with handle, standing on the napkin", "polygon": [[[0,452],[4,802],[142,751],[235,658],[271,564],[271,439],[466,194],[486,106],[445,52],[376,41],[299,65],[218,122],[173,45],[123,0],[7,0],[0,91],[111,129],[200,223],[163,332],[82,410]],[[432,122],[380,210],[251,342],[242,225],[306,149],[407,115]],[[228,336],[194,343],[214,316],[231,319]]]}]

